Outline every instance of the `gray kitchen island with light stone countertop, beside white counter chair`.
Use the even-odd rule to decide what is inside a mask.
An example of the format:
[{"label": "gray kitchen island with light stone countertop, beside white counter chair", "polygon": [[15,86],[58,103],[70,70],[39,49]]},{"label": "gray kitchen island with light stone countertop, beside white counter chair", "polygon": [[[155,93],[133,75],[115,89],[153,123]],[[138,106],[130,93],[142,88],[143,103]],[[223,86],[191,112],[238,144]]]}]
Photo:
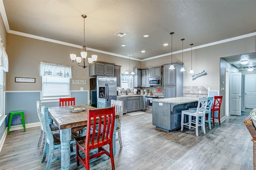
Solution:
[{"label": "gray kitchen island with light stone countertop, beside white counter chair", "polygon": [[[170,132],[180,127],[181,111],[196,107],[197,97],[173,97],[155,99],[153,102],[152,123],[156,128]],[[185,117],[185,121],[186,117]]]}]

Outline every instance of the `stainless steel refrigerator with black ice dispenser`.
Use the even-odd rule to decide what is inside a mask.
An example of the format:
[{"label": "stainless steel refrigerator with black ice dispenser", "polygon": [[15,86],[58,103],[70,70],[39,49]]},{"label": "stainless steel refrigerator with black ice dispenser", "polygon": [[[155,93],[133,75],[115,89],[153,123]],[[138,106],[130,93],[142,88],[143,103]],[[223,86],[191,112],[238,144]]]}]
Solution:
[{"label": "stainless steel refrigerator with black ice dispenser", "polygon": [[116,100],[116,77],[97,76],[90,79],[91,105],[97,107],[97,99],[107,99],[107,107],[111,99]]}]

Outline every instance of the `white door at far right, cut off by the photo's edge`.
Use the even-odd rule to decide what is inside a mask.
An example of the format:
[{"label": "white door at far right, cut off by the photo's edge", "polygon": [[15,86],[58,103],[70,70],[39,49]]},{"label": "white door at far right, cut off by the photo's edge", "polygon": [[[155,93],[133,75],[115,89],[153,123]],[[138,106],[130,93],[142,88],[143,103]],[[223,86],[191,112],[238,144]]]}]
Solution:
[{"label": "white door at far right, cut off by the photo's edge", "polygon": [[245,75],[245,108],[256,107],[256,75]]}]

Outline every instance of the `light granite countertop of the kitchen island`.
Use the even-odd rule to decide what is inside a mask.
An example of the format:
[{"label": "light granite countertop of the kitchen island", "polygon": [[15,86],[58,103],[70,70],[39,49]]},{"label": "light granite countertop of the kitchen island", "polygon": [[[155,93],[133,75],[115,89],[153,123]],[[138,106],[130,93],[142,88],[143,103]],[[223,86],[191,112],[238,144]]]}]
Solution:
[{"label": "light granite countertop of the kitchen island", "polygon": [[160,102],[160,103],[185,104],[185,103],[198,101],[198,97],[172,97],[172,98],[166,98],[166,99],[154,99],[151,101]]}]

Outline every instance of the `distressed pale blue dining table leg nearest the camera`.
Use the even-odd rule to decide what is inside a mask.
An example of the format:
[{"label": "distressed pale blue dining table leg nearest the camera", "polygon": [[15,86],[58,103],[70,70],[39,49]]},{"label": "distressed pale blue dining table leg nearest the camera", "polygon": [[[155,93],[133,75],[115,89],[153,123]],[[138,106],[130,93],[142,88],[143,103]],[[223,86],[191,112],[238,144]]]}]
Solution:
[{"label": "distressed pale blue dining table leg nearest the camera", "polygon": [[71,128],[60,130],[61,144],[61,170],[69,170],[70,168],[70,140]]}]

